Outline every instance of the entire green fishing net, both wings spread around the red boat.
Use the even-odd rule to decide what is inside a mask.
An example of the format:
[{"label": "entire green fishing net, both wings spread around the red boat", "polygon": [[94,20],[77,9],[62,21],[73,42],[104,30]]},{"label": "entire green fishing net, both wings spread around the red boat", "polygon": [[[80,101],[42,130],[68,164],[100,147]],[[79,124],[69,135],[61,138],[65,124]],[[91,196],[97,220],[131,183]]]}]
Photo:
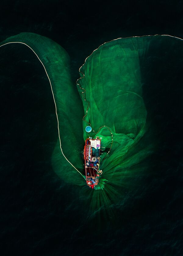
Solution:
[{"label": "entire green fishing net, both wings spread around the red boat", "polygon": [[[147,136],[145,67],[147,59],[152,62],[161,54],[163,44],[171,48],[172,42],[178,40],[144,36],[104,43],[85,60],[77,85],[71,80],[69,56],[56,42],[37,34],[21,33],[1,43],[27,44],[45,67],[59,129],[52,166],[64,182],[86,186],[84,141],[88,136],[101,138],[102,176],[95,189],[88,188],[92,207],[110,205],[134,182],[135,175],[148,171],[144,160],[153,151],[153,138]],[[85,131],[88,125],[92,128],[89,134]]]}]

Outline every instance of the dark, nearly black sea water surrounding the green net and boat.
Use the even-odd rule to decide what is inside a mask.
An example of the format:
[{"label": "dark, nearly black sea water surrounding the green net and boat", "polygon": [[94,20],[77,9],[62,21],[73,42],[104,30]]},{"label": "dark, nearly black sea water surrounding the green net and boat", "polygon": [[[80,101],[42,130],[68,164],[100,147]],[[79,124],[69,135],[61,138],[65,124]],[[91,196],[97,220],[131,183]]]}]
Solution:
[{"label": "dark, nearly black sea water surrounding the green net and boat", "polygon": [[[51,38],[70,55],[75,82],[85,58],[105,41],[146,34],[183,38],[182,11],[181,1],[2,1],[0,41],[20,32]],[[80,204],[85,190],[52,169],[58,130],[45,71],[28,49],[0,49],[1,255],[183,255],[181,51],[144,67],[143,98],[156,150],[147,177],[135,189],[131,184],[115,217],[101,215],[99,223],[86,221],[90,202],[88,208],[87,201]]]}]

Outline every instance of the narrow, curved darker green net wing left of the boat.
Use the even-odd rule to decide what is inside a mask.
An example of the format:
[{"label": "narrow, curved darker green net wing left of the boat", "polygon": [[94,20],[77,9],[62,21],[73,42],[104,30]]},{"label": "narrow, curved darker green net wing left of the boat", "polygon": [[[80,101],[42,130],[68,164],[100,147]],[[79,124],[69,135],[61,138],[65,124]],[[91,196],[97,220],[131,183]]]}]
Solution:
[{"label": "narrow, curved darker green net wing left of the boat", "polygon": [[21,33],[7,38],[1,43],[3,47],[9,42],[22,43],[34,51],[50,81],[56,117],[58,117],[59,138],[52,155],[52,165],[59,177],[71,184],[84,185],[83,178],[83,107],[76,85],[71,82],[69,56],[56,42],[33,33]]}]

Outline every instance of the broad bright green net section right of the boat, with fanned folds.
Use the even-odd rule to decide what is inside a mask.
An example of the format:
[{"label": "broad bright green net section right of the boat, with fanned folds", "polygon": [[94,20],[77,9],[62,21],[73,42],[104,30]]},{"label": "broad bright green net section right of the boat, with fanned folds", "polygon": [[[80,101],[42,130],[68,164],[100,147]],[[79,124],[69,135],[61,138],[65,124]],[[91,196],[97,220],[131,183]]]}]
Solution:
[{"label": "broad bright green net section right of the boat, with fanned folds", "polygon": [[[141,65],[149,48],[149,37],[123,38],[105,43],[89,56],[80,69],[78,87],[86,116],[85,127],[92,127],[91,137],[102,138],[102,176],[93,195],[95,207],[114,198],[119,186],[142,173],[137,164],[150,152],[138,141],[146,129],[146,109],[142,98]],[[134,166],[136,165],[136,168]],[[101,191],[102,190],[102,191]],[[109,200],[110,201],[110,200]]]}]

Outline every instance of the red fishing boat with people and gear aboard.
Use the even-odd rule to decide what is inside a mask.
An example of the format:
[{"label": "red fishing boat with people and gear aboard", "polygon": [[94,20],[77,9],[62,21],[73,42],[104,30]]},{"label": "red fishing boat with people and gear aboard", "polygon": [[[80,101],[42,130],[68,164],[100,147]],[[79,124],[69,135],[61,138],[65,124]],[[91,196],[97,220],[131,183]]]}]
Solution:
[{"label": "red fishing boat with people and gear aboard", "polygon": [[101,139],[88,138],[85,140],[84,146],[84,165],[86,184],[90,188],[95,188],[99,182],[99,177],[102,175],[102,170],[99,170],[100,165],[100,143]]}]

